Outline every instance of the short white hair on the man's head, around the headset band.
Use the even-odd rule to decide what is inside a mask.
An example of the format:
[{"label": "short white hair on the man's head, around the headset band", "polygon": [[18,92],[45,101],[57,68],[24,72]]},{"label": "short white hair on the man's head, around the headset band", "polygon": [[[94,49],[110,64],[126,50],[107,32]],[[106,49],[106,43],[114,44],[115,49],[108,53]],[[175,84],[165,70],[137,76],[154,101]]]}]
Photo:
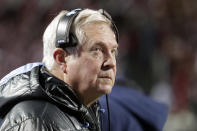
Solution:
[{"label": "short white hair on the man's head, around the headset band", "polygon": [[[45,64],[48,70],[51,70],[53,66],[55,65],[53,52],[56,48],[55,47],[56,29],[57,29],[57,25],[58,25],[60,18],[66,13],[67,11],[65,10],[61,11],[48,25],[43,35],[43,60],[42,62]],[[102,22],[102,23],[104,22],[108,24],[109,26],[111,26],[111,21],[108,18],[106,18],[104,15],[102,15],[99,11],[95,11],[91,9],[82,10],[78,14],[78,16],[75,18],[71,27],[71,32],[73,32],[78,39],[78,44],[76,47],[66,48],[66,50],[69,53],[73,53],[73,54],[77,53],[78,47],[82,45],[86,39],[82,27],[92,22]]]}]

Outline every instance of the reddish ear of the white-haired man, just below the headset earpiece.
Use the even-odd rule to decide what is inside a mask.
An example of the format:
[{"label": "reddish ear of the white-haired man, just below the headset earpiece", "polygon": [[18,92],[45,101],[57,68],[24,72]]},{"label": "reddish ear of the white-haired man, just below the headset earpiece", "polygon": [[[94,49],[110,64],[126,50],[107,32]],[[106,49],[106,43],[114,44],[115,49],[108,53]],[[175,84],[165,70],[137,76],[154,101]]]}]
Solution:
[{"label": "reddish ear of the white-haired man, just below the headset earpiece", "polygon": [[65,52],[63,49],[61,48],[56,48],[55,51],[53,52],[53,58],[56,62],[56,64],[60,67],[60,69],[66,73],[66,59],[65,57],[67,56],[67,52]]}]

